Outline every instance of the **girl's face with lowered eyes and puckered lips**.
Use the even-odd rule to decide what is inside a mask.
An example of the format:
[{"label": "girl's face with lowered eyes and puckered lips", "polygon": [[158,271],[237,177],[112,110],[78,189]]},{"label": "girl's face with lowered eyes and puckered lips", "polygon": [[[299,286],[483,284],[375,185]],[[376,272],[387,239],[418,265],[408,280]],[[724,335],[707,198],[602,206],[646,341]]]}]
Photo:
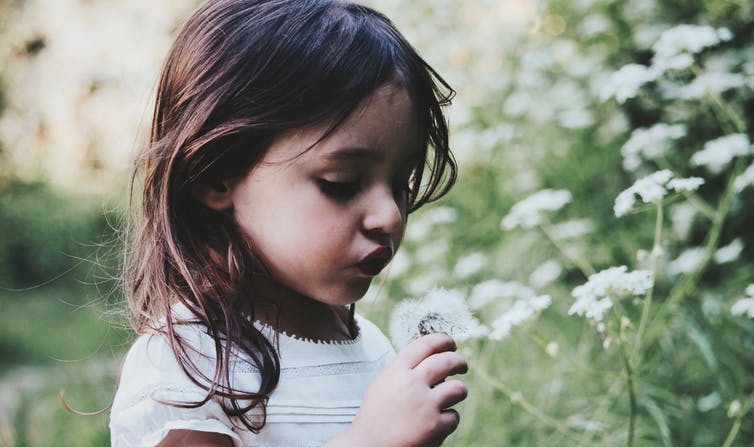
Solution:
[{"label": "girl's face with lowered eyes and puckered lips", "polygon": [[228,196],[275,281],[346,305],[366,293],[400,245],[418,126],[408,93],[391,84],[300,155],[327,124],[278,138]]}]

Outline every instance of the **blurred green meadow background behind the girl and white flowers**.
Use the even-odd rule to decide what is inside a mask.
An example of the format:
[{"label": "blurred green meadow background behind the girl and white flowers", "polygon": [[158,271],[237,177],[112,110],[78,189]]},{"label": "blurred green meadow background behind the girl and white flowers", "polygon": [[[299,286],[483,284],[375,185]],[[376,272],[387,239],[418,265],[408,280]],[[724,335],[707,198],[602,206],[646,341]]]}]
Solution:
[{"label": "blurred green meadow background behind the girl and white flowers", "polygon": [[[117,280],[130,163],[144,143],[161,58],[196,3],[0,0],[0,445],[109,443],[107,413],[73,415],[58,394],[81,411],[106,408],[134,337]],[[410,218],[401,255],[360,312],[387,332],[398,300],[432,286],[473,295],[493,279],[553,301],[503,340],[462,344],[471,394],[447,445],[754,445],[754,319],[730,312],[754,283],[754,188],[728,194],[752,156],[720,174],[689,163],[705,141],[751,138],[751,2],[370,4],[457,90],[449,121],[461,171],[449,196]],[[733,38],[623,103],[602,95],[612,73],[649,65],[662,31],[684,23],[726,27]],[[669,93],[704,73],[735,79],[701,98]],[[624,169],[632,131],[658,122],[687,131],[663,159]],[[730,210],[705,219],[684,197],[667,200],[652,318],[628,374],[620,347],[632,337],[612,326],[599,334],[568,315],[571,290],[586,280],[572,260],[646,268],[652,209],[617,219],[613,203],[636,178],[668,166],[704,177],[699,199],[720,209],[728,197]],[[502,231],[511,207],[544,188],[573,195],[551,215],[554,233]],[[685,249],[712,253],[736,239],[743,249],[734,259],[672,273]],[[668,303],[681,286],[687,291]],[[477,316],[491,324],[505,309],[499,301]],[[633,336],[643,302],[621,303]]]}]

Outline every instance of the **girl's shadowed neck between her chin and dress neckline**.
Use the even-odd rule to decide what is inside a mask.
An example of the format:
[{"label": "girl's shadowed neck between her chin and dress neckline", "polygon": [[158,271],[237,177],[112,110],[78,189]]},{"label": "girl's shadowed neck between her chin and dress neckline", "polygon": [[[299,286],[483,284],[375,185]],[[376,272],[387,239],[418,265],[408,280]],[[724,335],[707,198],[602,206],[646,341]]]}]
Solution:
[{"label": "girl's shadowed neck between her chin and dress neckline", "polygon": [[254,318],[277,331],[318,341],[356,337],[348,307],[334,306],[282,287],[269,278],[255,278]]}]

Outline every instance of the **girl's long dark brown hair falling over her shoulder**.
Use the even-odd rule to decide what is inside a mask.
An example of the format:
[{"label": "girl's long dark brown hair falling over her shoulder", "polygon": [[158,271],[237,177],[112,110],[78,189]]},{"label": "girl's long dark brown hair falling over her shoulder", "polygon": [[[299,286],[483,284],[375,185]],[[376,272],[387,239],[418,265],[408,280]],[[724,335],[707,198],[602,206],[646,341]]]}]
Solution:
[{"label": "girl's long dark brown hair falling over her shoulder", "polygon": [[[332,122],[331,132],[389,82],[408,91],[421,131],[413,211],[455,181],[441,109],[455,92],[389,19],[335,0],[210,0],[188,19],[162,69],[150,144],[134,172],[143,195],[124,271],[136,331],[162,332],[184,371],[207,390],[203,401],[172,405],[215,399],[256,432],[265,418],[247,412],[264,414],[280,376],[275,347],[253,324],[253,250],[232,216],[194,197],[197,186],[241,178],[286,131]],[[177,303],[215,340],[212,377],[191,361],[176,330],[187,324],[171,312]],[[233,389],[233,352],[260,371],[257,392]]]}]

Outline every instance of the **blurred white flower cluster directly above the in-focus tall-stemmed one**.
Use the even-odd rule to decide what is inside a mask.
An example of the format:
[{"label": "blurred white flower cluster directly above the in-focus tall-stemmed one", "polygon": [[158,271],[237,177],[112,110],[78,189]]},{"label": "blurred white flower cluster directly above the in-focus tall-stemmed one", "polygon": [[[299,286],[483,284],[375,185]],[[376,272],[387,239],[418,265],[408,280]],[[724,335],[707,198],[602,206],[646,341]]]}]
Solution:
[{"label": "blurred white flower cluster directly above the in-focus tall-stemmed one", "polygon": [[642,160],[654,160],[667,154],[671,140],[686,136],[686,126],[682,124],[658,123],[649,128],[639,128],[631,132],[631,137],[621,148],[623,167],[635,171]]}]

